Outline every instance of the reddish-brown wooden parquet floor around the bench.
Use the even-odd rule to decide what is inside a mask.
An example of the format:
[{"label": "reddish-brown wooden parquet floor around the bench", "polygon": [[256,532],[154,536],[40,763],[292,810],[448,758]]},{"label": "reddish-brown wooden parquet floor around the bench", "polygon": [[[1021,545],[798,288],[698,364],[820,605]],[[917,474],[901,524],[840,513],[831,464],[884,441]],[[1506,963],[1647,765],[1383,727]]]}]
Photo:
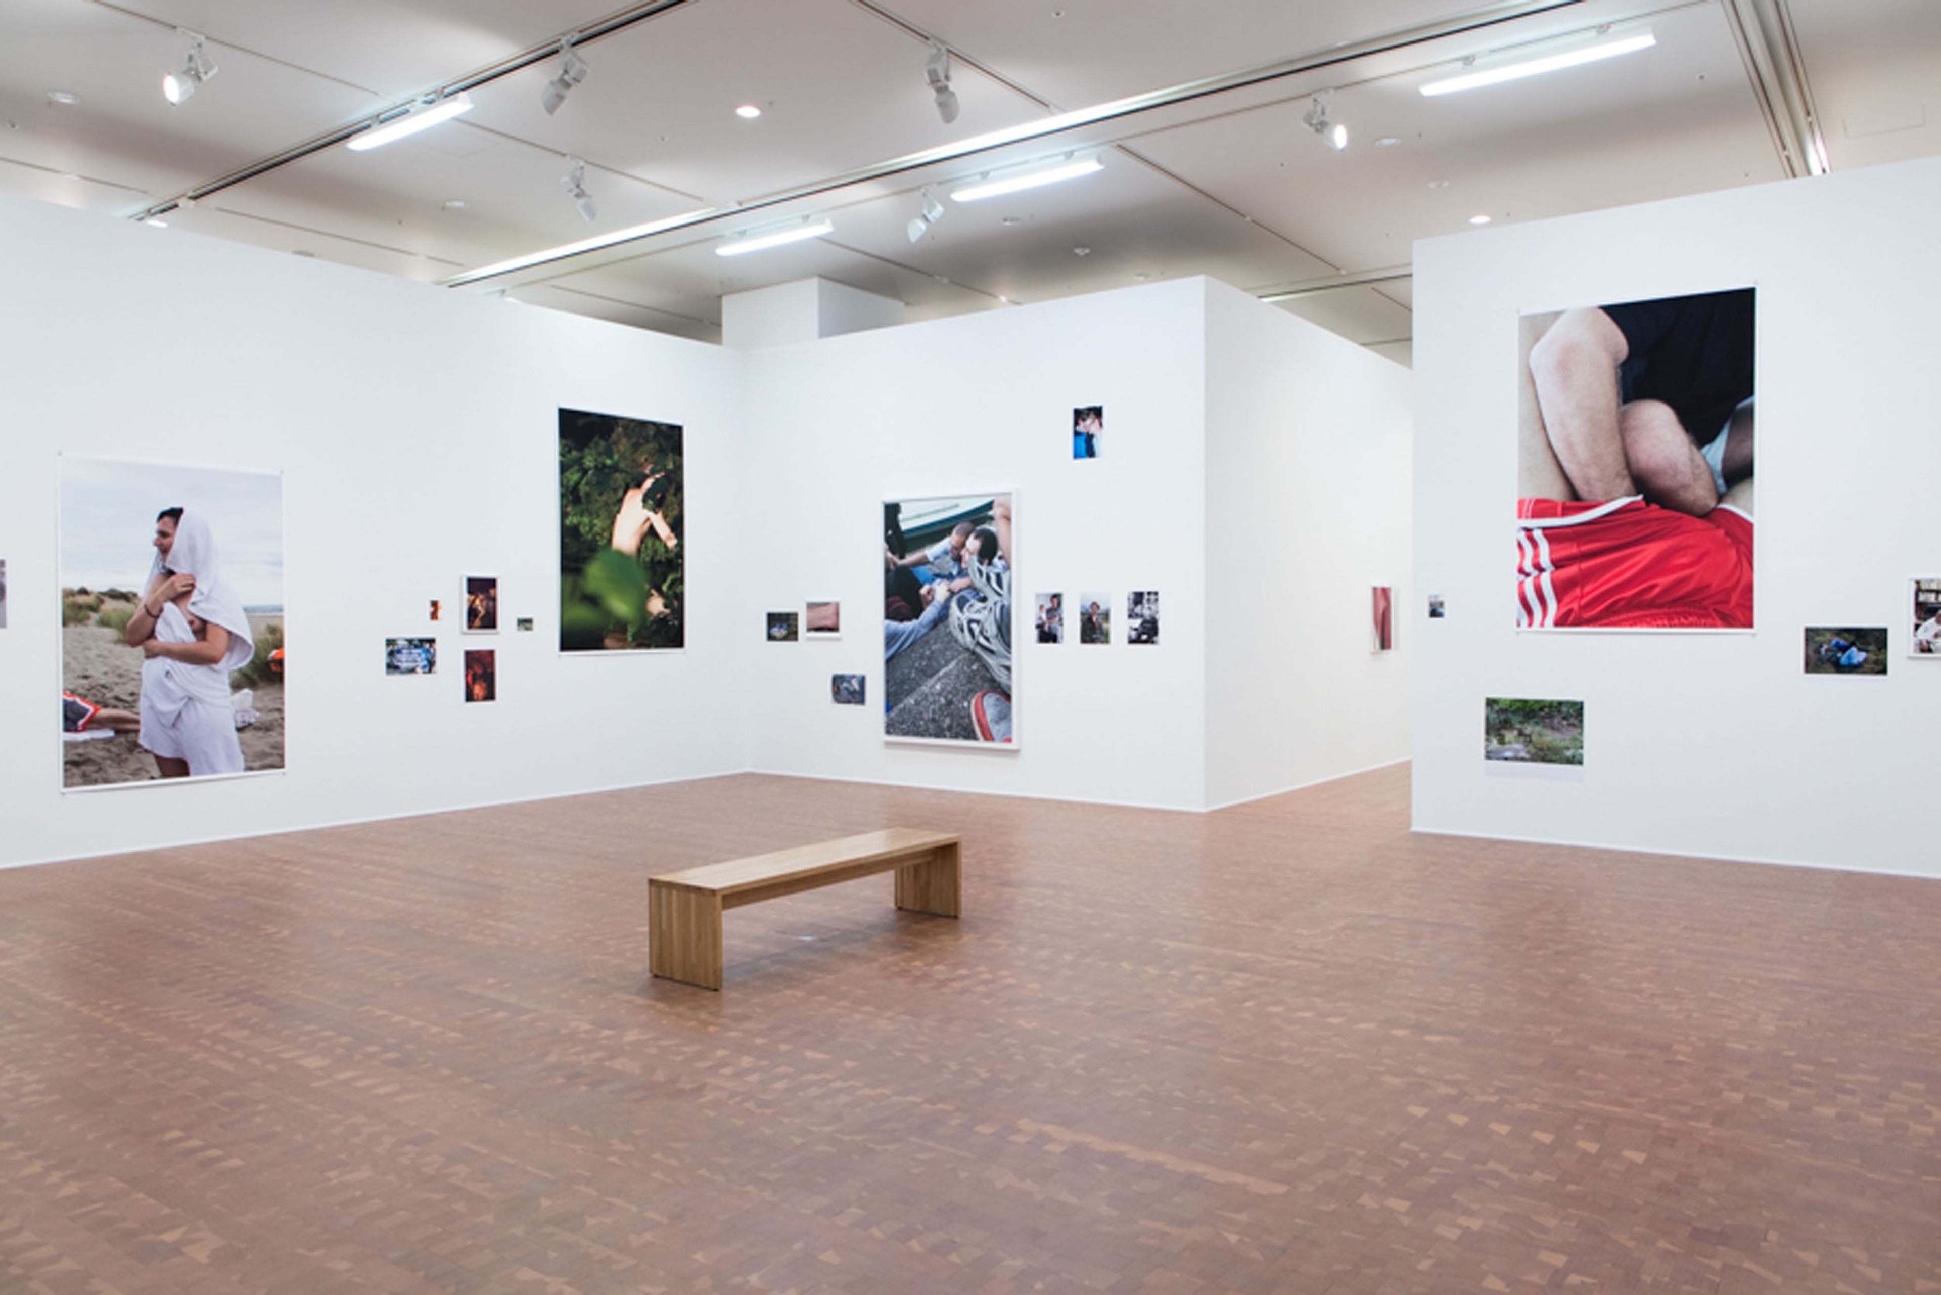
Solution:
[{"label": "reddish-brown wooden parquet floor around the bench", "polygon": [[[646,979],[646,876],[961,831]],[[0,1291],[1941,1291],[1941,883],[734,777],[0,874]]]}]

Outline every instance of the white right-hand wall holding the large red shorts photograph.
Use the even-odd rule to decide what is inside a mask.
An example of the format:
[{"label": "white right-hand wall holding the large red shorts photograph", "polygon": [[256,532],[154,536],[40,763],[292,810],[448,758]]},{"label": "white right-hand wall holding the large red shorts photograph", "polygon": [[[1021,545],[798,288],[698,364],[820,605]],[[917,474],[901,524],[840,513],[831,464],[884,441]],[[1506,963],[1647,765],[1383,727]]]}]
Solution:
[{"label": "white right-hand wall holding the large red shorts photograph", "polygon": [[[1925,159],[1417,245],[1419,831],[1941,876],[1941,660],[1906,658],[1941,575],[1935,212]],[[1518,316],[1745,285],[1755,631],[1520,633]],[[1889,627],[1889,674],[1803,674],[1809,625]],[[1580,777],[1485,767],[1485,697],[1582,699]]]}]

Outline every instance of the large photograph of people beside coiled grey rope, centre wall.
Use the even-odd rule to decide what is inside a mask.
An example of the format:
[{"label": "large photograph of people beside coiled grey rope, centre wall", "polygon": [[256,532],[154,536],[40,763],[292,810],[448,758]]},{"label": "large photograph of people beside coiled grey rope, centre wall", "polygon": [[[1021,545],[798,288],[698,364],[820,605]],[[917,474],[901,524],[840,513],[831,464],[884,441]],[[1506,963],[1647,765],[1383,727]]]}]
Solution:
[{"label": "large photograph of people beside coiled grey rope, centre wall", "polygon": [[883,505],[883,736],[1015,749],[1007,491]]}]

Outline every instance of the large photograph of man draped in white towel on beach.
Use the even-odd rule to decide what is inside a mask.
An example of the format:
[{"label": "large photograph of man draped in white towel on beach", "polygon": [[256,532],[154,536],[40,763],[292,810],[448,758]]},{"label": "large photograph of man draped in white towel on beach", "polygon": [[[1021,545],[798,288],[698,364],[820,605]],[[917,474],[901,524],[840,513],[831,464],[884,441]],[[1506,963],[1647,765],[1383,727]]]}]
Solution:
[{"label": "large photograph of man draped in white towel on beach", "polygon": [[62,786],[281,769],[283,478],[62,458],[60,687]]}]

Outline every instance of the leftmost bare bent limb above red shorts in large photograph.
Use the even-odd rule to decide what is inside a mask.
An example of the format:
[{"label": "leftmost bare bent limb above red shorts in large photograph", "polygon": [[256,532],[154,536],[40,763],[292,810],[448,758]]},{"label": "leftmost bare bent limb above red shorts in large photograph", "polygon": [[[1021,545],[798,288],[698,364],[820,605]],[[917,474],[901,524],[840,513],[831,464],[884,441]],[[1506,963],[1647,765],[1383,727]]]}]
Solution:
[{"label": "leftmost bare bent limb above red shorts in large photograph", "polygon": [[[1530,348],[1535,414],[1576,499],[1603,501],[1640,493],[1625,460],[1619,427],[1617,367],[1628,353],[1625,334],[1599,309],[1564,311]],[[1524,458],[1528,468],[1528,445]],[[1557,487],[1555,481],[1545,485]]]}]

